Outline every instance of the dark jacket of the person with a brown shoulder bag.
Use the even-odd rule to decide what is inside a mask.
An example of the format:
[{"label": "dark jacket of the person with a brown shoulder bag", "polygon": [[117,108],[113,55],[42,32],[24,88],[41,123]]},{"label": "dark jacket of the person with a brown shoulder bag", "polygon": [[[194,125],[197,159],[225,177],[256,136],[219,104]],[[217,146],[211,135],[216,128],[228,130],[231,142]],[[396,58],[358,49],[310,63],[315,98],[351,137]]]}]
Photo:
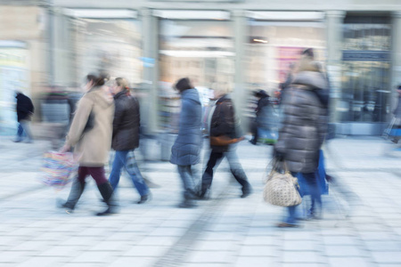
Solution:
[{"label": "dark jacket of the person with a brown shoulder bag", "polygon": [[[241,128],[238,119],[235,117],[233,101],[229,94],[225,94],[216,101],[216,109],[211,117],[209,128],[209,136],[224,135],[232,139],[241,137]],[[228,151],[229,145],[210,145],[210,148],[215,152],[226,152]]]}]

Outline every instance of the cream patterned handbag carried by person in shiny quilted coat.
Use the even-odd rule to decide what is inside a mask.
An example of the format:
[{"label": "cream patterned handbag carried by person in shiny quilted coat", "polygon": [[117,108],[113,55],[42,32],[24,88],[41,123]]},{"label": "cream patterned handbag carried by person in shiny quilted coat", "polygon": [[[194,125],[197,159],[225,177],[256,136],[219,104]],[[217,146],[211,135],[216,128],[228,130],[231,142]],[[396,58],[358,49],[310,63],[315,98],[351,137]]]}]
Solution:
[{"label": "cream patterned handbag carried by person in shiny quilted coat", "polygon": [[302,202],[297,178],[293,177],[284,162],[284,173],[278,172],[274,159],[272,171],[267,176],[263,198],[274,206],[298,206]]}]

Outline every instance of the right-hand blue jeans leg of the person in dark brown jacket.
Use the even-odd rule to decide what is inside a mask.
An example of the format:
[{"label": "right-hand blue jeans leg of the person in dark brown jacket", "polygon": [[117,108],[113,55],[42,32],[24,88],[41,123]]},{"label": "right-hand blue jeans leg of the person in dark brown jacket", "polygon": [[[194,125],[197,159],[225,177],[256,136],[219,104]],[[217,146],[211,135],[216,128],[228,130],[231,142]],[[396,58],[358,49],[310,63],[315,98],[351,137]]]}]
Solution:
[{"label": "right-hand blue jeans leg of the person in dark brown jacket", "polygon": [[[135,185],[136,190],[138,191],[141,197],[149,195],[149,188],[146,183],[143,181],[143,176],[139,171],[138,165],[136,164],[135,154],[133,151],[124,151],[124,154],[120,154],[120,159],[124,163],[126,167],[127,173],[132,179],[132,182]],[[128,157],[129,155],[129,157]]]}]

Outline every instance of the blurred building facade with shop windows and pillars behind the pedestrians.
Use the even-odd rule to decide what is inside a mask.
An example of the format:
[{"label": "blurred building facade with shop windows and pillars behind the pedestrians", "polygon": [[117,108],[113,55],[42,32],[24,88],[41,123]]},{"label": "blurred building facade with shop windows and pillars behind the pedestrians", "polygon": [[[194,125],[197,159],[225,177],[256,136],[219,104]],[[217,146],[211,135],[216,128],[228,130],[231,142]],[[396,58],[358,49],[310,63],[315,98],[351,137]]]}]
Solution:
[{"label": "blurred building facade with shop windows and pillars behind the pedestrians", "polygon": [[[161,99],[174,95],[171,85],[179,77],[205,88],[233,85],[237,108],[243,110],[250,90],[274,93],[307,47],[315,49],[330,78],[331,122],[338,134],[381,134],[401,84],[397,0],[0,4],[0,54],[25,59],[18,65],[0,58],[0,81],[9,83],[9,69],[20,71],[14,74],[20,84],[12,85],[25,86],[38,98],[50,86],[77,87],[94,70],[127,77],[139,88],[143,120],[153,133],[163,120]],[[1,89],[6,99],[11,87],[8,93]],[[0,116],[10,117],[7,105],[4,101]]]}]

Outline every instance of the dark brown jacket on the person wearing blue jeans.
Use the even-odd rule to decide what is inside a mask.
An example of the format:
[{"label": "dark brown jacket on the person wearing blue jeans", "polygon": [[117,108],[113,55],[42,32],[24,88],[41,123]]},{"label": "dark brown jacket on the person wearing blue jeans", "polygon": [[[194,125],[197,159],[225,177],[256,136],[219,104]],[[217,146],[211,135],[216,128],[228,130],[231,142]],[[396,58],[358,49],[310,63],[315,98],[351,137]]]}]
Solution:
[{"label": "dark brown jacket on the person wearing blue jeans", "polygon": [[139,146],[139,102],[127,90],[114,96],[113,150],[134,150]]}]

